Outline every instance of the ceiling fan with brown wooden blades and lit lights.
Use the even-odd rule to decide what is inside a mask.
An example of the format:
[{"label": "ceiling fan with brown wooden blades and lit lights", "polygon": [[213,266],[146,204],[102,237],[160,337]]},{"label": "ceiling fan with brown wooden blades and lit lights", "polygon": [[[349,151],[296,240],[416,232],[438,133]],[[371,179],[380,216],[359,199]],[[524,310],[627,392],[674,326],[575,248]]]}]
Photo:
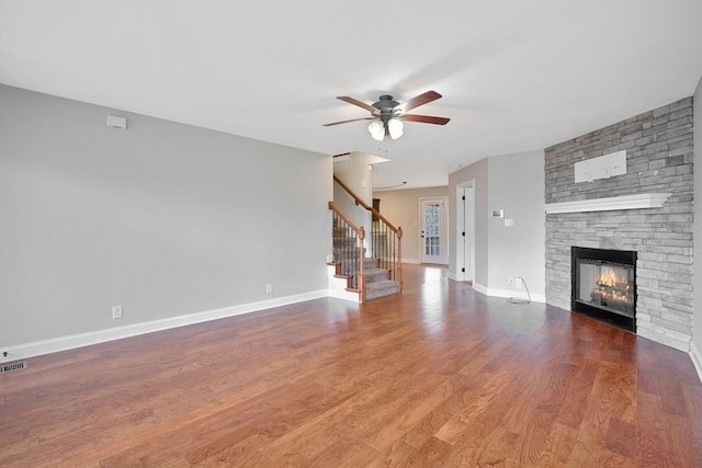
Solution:
[{"label": "ceiling fan with brown wooden blades and lit lights", "polygon": [[389,135],[389,137],[393,139],[397,139],[401,137],[404,133],[403,121],[419,122],[422,124],[446,125],[450,121],[450,118],[446,117],[405,114],[405,112],[407,111],[430,103],[431,101],[435,101],[439,98],[441,98],[441,94],[439,94],[437,91],[427,91],[426,93],[419,94],[418,96],[400,104],[399,102],[393,100],[392,95],[384,94],[378,99],[377,102],[374,102],[371,105],[356,99],[341,95],[337,96],[337,99],[348,102],[349,104],[358,105],[359,107],[365,109],[371,113],[372,116],[351,118],[349,121],[341,122],[332,122],[331,124],[325,124],[324,126],[330,127],[332,125],[347,124],[349,122],[373,121],[369,125],[369,132],[374,139],[382,141],[386,135]]}]

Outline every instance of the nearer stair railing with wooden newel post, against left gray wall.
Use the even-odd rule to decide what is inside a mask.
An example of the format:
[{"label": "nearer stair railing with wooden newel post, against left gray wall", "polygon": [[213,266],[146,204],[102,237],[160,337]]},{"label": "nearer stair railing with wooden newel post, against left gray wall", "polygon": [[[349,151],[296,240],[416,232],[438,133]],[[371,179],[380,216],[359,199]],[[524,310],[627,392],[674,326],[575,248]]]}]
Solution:
[{"label": "nearer stair railing with wooden newel post, against left gray wall", "polygon": [[351,278],[350,288],[359,292],[363,303],[365,301],[365,285],[363,281],[365,229],[358,227],[343,213],[339,212],[333,202],[329,202],[329,209],[333,217],[333,261],[341,262],[340,273]]}]

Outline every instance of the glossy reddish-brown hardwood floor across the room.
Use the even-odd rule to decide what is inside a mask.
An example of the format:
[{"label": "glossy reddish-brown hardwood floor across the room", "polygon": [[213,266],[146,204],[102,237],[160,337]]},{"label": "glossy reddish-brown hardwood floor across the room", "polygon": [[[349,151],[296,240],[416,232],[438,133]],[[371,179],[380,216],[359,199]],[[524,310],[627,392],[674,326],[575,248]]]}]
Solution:
[{"label": "glossy reddish-brown hardwood floor across the room", "polygon": [[702,466],[687,354],[405,276],[31,358],[0,375],[0,466]]}]

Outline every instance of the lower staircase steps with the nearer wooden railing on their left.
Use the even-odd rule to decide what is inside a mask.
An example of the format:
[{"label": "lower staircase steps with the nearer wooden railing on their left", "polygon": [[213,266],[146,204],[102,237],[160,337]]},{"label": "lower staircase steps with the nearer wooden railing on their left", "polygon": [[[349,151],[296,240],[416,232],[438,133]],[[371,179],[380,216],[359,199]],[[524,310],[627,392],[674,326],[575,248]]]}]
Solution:
[{"label": "lower staircase steps with the nearer wooden railing on their left", "polygon": [[400,282],[393,279],[394,272],[381,267],[383,261],[380,258],[366,256],[367,249],[363,247],[365,231],[363,228],[360,231],[362,236],[356,236],[348,222],[335,216],[333,261],[328,263],[335,269],[333,276],[346,281],[344,289],[356,294],[361,303],[398,294]]}]

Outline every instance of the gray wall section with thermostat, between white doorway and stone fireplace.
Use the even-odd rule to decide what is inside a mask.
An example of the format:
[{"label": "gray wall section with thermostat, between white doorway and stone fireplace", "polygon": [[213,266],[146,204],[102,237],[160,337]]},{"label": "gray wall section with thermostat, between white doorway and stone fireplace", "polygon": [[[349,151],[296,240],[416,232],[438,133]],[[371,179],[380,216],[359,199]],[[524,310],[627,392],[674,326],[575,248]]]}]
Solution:
[{"label": "gray wall section with thermostat, between white doorway and stone fireplace", "polygon": [[[529,292],[544,300],[545,237],[544,151],[488,158],[488,213],[503,209],[505,218],[488,218],[487,286],[518,295],[524,289],[507,278],[521,276]],[[513,227],[506,227],[505,219]],[[523,296],[523,294],[522,294]],[[521,296],[520,296],[521,297]]]}]

